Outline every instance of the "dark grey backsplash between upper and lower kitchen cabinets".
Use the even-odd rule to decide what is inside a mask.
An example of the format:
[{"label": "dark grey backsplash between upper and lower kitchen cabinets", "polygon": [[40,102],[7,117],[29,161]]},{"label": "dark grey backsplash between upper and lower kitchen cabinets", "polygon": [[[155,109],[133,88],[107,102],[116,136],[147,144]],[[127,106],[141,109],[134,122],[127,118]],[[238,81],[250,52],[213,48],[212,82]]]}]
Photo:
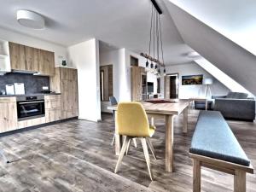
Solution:
[{"label": "dark grey backsplash between upper and lower kitchen cabinets", "polygon": [[26,94],[40,93],[42,86],[49,86],[49,77],[32,74],[7,73],[0,76],[0,91],[5,90],[5,84],[23,83]]}]

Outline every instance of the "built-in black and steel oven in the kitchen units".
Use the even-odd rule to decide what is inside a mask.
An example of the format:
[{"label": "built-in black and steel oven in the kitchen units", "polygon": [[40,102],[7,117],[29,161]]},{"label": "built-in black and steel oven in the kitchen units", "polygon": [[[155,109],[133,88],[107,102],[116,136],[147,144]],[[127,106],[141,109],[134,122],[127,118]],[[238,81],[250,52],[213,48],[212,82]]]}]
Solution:
[{"label": "built-in black and steel oven in the kitchen units", "polygon": [[19,121],[44,117],[44,96],[17,97],[17,113]]}]

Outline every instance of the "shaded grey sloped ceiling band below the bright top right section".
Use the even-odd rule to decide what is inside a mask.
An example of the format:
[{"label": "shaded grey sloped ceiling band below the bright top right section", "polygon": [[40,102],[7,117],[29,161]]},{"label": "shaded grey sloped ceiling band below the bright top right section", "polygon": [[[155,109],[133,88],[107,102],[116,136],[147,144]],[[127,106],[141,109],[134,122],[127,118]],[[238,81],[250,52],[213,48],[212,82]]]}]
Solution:
[{"label": "shaded grey sloped ceiling band below the bright top right section", "polygon": [[185,43],[256,95],[255,55],[171,2],[165,3]]}]

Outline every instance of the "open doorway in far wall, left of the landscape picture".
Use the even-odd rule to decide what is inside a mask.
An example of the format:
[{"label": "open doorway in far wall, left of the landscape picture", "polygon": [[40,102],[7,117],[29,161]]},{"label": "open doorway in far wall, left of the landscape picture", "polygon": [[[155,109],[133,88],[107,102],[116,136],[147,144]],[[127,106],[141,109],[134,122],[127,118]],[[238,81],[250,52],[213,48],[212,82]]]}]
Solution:
[{"label": "open doorway in far wall, left of the landscape picture", "polygon": [[178,73],[167,74],[165,78],[165,98],[178,98]]}]

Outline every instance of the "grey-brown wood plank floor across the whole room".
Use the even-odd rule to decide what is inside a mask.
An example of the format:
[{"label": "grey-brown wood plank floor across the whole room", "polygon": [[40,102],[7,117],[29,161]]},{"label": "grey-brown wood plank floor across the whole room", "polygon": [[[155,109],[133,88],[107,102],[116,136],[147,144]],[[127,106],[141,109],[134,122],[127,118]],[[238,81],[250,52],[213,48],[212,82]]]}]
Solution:
[{"label": "grey-brown wood plank floor across the whole room", "polygon": [[[164,121],[156,120],[152,139],[158,160],[151,157],[154,182],[148,177],[141,144],[131,147],[120,172],[114,174],[117,156],[110,145],[113,119],[101,123],[71,120],[32,131],[0,137],[10,164],[0,160],[0,191],[192,191],[192,161],[188,157],[198,112],[189,112],[189,132],[182,133],[183,117],[175,119],[175,172],[165,172]],[[228,121],[241,147],[256,167],[256,124]],[[202,191],[232,191],[233,177],[203,168]],[[256,192],[256,175],[247,175],[247,191]]]}]

